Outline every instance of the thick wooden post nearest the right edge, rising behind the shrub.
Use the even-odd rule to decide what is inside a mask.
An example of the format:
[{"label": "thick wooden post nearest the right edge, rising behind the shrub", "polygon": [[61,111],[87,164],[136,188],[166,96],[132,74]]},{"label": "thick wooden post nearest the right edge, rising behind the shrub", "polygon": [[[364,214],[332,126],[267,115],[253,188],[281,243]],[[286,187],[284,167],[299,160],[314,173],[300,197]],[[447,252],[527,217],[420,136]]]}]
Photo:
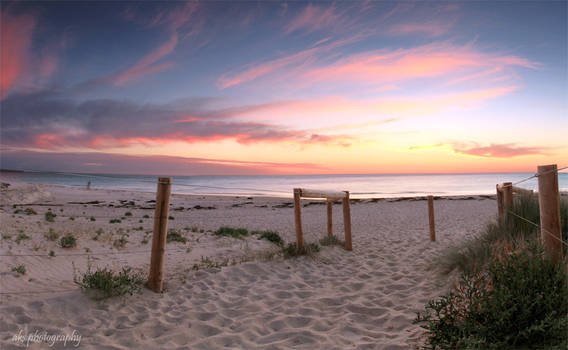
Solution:
[{"label": "thick wooden post nearest the right edge, rising behind the shrub", "polygon": [[546,252],[552,256],[554,261],[558,261],[562,257],[558,167],[556,164],[541,165],[537,169],[541,237]]}]

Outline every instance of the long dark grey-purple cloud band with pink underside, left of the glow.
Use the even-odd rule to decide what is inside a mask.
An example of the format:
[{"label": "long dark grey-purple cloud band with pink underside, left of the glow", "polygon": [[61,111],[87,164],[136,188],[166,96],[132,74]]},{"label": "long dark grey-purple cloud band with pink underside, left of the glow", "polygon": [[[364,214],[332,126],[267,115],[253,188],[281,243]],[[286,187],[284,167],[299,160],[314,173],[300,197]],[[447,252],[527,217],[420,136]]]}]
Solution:
[{"label": "long dark grey-purple cloud band with pink underside, left of the glow", "polygon": [[214,109],[215,100],[186,99],[170,104],[138,104],[126,100],[77,101],[56,90],[17,93],[1,105],[1,143],[7,146],[54,148],[83,146],[96,149],[132,143],[212,141],[332,142],[332,137],[277,125],[243,122],[231,117],[266,108],[240,106]]}]

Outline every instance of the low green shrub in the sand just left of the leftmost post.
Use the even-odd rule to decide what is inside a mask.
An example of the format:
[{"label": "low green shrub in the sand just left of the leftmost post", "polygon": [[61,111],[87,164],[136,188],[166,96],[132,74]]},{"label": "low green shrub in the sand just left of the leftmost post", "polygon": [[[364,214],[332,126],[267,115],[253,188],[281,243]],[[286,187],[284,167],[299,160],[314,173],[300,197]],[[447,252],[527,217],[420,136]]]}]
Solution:
[{"label": "low green shrub in the sand just left of the leftmost post", "polygon": [[141,272],[134,272],[130,267],[124,267],[120,271],[107,267],[92,271],[90,262],[87,266],[87,271],[82,276],[78,276],[77,271],[74,271],[73,281],[93,299],[133,295],[142,291],[144,276]]}]

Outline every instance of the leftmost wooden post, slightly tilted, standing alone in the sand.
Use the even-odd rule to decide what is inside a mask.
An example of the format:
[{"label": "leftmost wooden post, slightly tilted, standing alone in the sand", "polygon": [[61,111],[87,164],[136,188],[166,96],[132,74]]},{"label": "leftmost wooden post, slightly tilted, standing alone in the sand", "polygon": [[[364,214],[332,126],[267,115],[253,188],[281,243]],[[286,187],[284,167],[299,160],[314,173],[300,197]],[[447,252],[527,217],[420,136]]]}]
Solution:
[{"label": "leftmost wooden post, slightly tilted, standing alone in the sand", "polygon": [[164,253],[166,252],[171,191],[172,178],[158,178],[156,211],[154,212],[154,236],[152,237],[152,257],[150,259],[150,275],[148,277],[148,288],[156,293],[160,293],[164,290]]}]

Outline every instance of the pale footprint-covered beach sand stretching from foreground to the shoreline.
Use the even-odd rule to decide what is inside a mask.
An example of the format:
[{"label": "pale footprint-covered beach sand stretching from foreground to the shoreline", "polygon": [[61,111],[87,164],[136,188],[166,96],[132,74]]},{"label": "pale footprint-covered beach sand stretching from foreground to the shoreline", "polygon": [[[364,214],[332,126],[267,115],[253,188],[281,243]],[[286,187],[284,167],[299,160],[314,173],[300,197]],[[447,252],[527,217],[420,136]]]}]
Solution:
[{"label": "pale footprint-covered beach sand stretching from foreground to the shoreline", "polygon": [[[495,200],[484,196],[437,199],[437,241],[430,242],[425,200],[352,201],[353,251],[322,247],[314,256],[284,259],[273,257],[278,248],[256,236],[241,240],[213,231],[272,230],[294,242],[291,199],[173,195],[169,228],[188,242],[167,245],[166,291],[144,289],[97,302],[73,284],[73,266],[85,271],[90,255],[93,267],[147,273],[155,193],[2,181],[12,185],[0,195],[0,254],[30,255],[2,256],[2,349],[23,346],[13,341],[20,330],[75,331],[84,349],[415,348],[423,342],[423,330],[412,324],[416,312],[447,292],[455,278],[440,275],[430,262],[479,233],[497,212]],[[306,242],[327,234],[321,203],[303,200]],[[37,214],[27,215],[27,208]],[[44,218],[48,209],[57,215],[54,222]],[[339,204],[333,214],[334,233],[343,238]],[[77,247],[48,241],[49,229],[75,235]],[[18,244],[22,233],[30,238]],[[122,236],[127,243],[116,248]],[[12,271],[18,265],[25,275]]]}]

